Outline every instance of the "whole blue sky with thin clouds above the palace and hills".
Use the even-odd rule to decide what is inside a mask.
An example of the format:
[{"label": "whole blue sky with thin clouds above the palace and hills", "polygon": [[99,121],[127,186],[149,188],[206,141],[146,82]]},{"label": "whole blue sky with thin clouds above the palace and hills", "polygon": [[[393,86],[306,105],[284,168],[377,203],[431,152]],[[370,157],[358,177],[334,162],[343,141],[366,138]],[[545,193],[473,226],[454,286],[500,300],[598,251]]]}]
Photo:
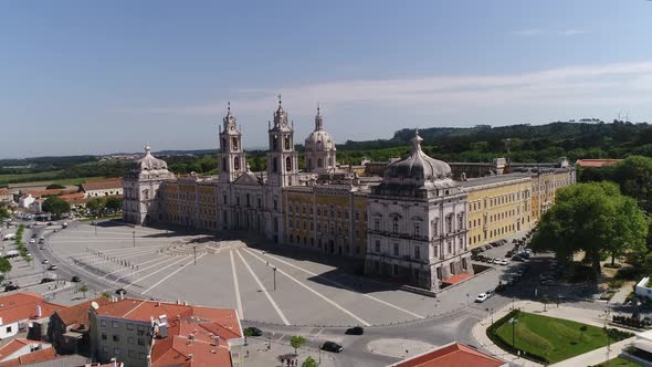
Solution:
[{"label": "whole blue sky with thin clouds above the palace and hills", "polygon": [[264,146],[275,96],[338,143],[403,127],[652,122],[652,2],[0,2],[0,157]]}]

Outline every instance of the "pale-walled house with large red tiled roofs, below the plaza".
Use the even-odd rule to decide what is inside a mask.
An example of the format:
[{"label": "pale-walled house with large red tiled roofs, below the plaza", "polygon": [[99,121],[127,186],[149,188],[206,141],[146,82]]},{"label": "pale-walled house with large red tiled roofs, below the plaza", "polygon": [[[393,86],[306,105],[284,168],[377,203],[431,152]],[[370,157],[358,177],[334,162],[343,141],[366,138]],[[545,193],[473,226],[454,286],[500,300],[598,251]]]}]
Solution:
[{"label": "pale-walled house with large red tiled roofs, below the plaza", "polygon": [[244,337],[228,308],[124,298],[90,308],[95,360],[127,366],[242,366]]}]

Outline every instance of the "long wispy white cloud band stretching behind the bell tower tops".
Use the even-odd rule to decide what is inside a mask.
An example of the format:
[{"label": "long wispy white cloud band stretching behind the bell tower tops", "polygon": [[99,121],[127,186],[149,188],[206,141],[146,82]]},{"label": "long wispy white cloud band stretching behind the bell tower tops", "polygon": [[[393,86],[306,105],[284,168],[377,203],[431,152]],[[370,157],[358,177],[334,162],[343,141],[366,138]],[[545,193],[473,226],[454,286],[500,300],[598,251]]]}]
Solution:
[{"label": "long wispy white cloud band stretching behind the bell tower tops", "polygon": [[116,113],[221,115],[229,98],[236,113],[269,118],[275,96],[293,115],[309,116],[317,102],[328,109],[409,108],[430,116],[486,108],[623,106],[652,98],[652,61],[579,65],[496,75],[432,75],[419,78],[351,80],[278,88],[241,88],[192,106],[118,108]]}]

